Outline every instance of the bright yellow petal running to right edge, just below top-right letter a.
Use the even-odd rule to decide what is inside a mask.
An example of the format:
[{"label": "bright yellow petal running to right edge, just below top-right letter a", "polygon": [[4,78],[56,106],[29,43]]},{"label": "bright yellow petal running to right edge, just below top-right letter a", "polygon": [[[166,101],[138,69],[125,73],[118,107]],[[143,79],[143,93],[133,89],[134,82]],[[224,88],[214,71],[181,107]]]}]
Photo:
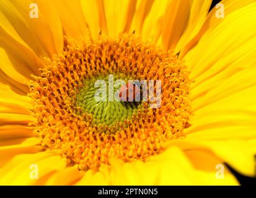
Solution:
[{"label": "bright yellow petal running to right edge, just below top-right letter a", "polygon": [[[216,61],[226,55],[229,55],[229,62],[232,63],[237,59],[237,56],[234,56],[236,51],[244,49],[243,46],[246,45],[249,49],[252,49],[256,33],[254,26],[255,7],[256,3],[232,12],[216,28],[208,30],[203,35],[196,48],[192,49],[185,57],[188,66],[192,69],[192,79],[208,71]],[[246,23],[244,23],[245,20]],[[234,34],[234,31],[236,34]],[[201,54],[202,51],[204,51],[203,54]],[[246,50],[244,53],[248,53],[248,51]],[[244,53],[238,58],[242,57]],[[198,56],[198,54],[201,54],[201,56]]]}]

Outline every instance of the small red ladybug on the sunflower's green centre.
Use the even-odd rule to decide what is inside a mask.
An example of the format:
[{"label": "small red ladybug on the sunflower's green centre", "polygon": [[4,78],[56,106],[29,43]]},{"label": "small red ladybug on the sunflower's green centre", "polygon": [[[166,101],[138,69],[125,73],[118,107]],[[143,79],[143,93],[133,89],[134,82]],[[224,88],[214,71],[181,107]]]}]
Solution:
[{"label": "small red ladybug on the sunflower's green centre", "polygon": [[[128,82],[126,85],[121,86],[119,98],[121,101],[139,101],[141,89],[135,83]],[[122,95],[126,93],[126,95]],[[132,98],[129,98],[132,97]],[[130,99],[130,100],[129,100]]]}]

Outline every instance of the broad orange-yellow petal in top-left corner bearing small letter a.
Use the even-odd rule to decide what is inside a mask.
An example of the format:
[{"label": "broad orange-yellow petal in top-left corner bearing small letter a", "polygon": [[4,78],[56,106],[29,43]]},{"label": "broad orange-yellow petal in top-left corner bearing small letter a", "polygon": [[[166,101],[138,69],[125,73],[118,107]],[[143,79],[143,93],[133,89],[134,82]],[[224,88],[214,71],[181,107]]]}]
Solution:
[{"label": "broad orange-yellow petal in top-left corner bearing small letter a", "polygon": [[[30,18],[32,2],[38,4],[38,18]],[[49,0],[1,1],[1,11],[38,56],[52,57],[63,48],[60,19]]]}]

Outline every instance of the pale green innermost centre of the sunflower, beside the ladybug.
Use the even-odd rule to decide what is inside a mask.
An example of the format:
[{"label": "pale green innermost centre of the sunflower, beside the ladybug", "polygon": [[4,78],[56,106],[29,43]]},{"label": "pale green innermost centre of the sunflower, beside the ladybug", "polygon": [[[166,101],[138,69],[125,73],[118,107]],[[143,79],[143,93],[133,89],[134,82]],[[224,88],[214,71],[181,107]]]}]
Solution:
[{"label": "pale green innermost centre of the sunflower, beside the ladybug", "polygon": [[97,75],[84,80],[76,97],[76,106],[82,113],[92,115],[92,123],[111,126],[131,119],[142,104],[120,101],[119,93],[123,82],[133,80],[125,74]]}]

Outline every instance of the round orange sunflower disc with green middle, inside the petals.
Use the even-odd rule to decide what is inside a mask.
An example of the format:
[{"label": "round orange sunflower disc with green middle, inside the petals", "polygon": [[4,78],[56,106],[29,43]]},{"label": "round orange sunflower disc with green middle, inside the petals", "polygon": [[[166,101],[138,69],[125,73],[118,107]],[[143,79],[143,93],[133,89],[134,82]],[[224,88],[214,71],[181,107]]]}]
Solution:
[{"label": "round orange sunflower disc with green middle, inside the petals", "polygon": [[[30,82],[29,94],[40,144],[81,170],[97,170],[111,158],[145,160],[161,152],[165,142],[182,136],[188,123],[190,81],[183,62],[133,35],[100,38],[84,46],[66,40],[63,52],[40,72]],[[160,80],[160,105],[152,108],[156,93],[143,101],[108,100],[110,76],[125,82]],[[107,101],[95,100],[97,80],[107,82],[107,90],[102,88]],[[148,93],[156,88],[153,84]]]}]

